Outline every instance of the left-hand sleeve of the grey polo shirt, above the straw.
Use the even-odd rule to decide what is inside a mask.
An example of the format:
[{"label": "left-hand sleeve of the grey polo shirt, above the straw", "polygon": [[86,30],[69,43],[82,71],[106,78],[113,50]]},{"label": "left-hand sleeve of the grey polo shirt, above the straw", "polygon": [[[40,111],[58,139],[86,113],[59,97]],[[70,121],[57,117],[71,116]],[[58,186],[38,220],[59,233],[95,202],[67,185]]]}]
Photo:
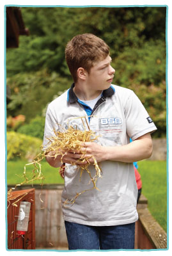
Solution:
[{"label": "left-hand sleeve of the grey polo shirt, above the straw", "polygon": [[46,145],[49,143],[49,138],[55,136],[54,131],[58,131],[58,120],[56,120],[56,115],[53,111],[47,108],[46,116],[45,116],[45,129],[43,136],[43,148],[46,148]]}]

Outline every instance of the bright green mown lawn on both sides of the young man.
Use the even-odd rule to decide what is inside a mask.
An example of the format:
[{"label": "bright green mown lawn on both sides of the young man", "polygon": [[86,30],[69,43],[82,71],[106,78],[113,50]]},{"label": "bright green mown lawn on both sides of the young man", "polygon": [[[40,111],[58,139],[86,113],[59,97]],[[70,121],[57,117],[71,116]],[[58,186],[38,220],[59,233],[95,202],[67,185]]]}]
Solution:
[{"label": "bright green mown lawn on both sides of the young man", "polygon": [[[19,184],[22,182],[22,174],[26,161],[8,161],[7,184]],[[167,230],[167,173],[166,161],[140,161],[139,173],[143,183],[142,193],[148,198],[148,209],[152,216],[159,222],[164,230]],[[26,173],[31,173],[33,165],[26,168]],[[63,184],[58,168],[51,167],[46,161],[42,161],[42,172],[45,177],[44,184]],[[34,184],[40,184],[35,180]]]}]

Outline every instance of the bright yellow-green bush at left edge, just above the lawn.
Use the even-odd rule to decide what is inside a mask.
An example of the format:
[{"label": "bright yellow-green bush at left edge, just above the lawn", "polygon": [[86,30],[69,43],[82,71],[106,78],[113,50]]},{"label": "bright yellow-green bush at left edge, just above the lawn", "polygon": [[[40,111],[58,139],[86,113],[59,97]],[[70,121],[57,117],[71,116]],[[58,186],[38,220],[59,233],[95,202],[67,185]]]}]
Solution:
[{"label": "bright yellow-green bush at left edge, just above the lawn", "polygon": [[6,138],[7,160],[27,159],[33,161],[42,146],[42,140],[14,131],[6,132]]}]

